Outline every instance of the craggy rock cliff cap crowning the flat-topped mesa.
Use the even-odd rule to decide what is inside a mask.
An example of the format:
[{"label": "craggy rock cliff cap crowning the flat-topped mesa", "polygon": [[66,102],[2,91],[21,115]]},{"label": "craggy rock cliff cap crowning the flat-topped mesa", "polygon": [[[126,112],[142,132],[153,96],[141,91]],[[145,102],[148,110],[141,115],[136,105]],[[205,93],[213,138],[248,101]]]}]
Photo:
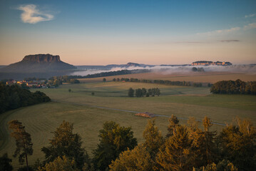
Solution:
[{"label": "craggy rock cliff cap crowning the flat-topped mesa", "polygon": [[54,63],[61,62],[60,56],[53,56],[51,54],[36,54],[25,56],[22,61],[30,61],[36,63]]}]

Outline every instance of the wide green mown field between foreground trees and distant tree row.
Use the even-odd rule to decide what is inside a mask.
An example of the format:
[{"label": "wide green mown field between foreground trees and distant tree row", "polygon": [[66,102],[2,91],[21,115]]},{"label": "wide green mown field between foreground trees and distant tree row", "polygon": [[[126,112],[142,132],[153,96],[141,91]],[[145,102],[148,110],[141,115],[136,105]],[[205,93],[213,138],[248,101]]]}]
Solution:
[{"label": "wide green mown field between foreground trees and distant tree row", "polygon": [[[120,76],[129,78],[126,76]],[[117,78],[117,77],[116,77]],[[135,78],[135,77],[134,77]],[[100,79],[99,79],[100,80]],[[107,79],[108,80],[108,79]],[[159,97],[128,98],[128,88],[160,88]],[[68,89],[71,89],[71,93]],[[37,89],[38,90],[38,89]],[[83,145],[89,155],[98,143],[98,131],[105,121],[113,120],[123,126],[131,126],[138,142],[143,141],[143,130],[146,118],[140,118],[134,113],[120,110],[150,112],[158,115],[172,114],[182,118],[195,117],[202,120],[210,117],[217,123],[231,123],[233,118],[250,118],[256,124],[256,96],[252,95],[211,95],[210,88],[194,88],[183,86],[164,86],[152,83],[81,83],[65,84],[59,88],[40,89],[53,102],[19,108],[0,115],[0,155],[8,152],[11,156],[15,150],[14,138],[9,137],[8,122],[20,120],[31,133],[34,142],[34,155],[29,157],[30,163],[39,158],[43,160],[41,147],[48,145],[52,138],[51,132],[56,130],[63,120],[74,124],[74,133],[81,135]],[[35,90],[33,90],[35,91]],[[91,95],[94,92],[95,95]],[[180,120],[186,123],[186,120]],[[157,117],[156,123],[163,135],[167,132],[168,118]],[[213,130],[220,131],[222,125],[214,125]],[[16,159],[14,167],[19,167]]]}]

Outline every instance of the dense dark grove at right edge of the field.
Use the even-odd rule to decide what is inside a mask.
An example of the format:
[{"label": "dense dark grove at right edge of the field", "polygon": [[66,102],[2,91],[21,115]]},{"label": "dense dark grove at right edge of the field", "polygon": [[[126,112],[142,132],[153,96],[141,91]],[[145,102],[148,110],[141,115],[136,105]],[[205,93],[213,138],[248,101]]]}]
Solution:
[{"label": "dense dark grove at right edge of the field", "polygon": [[218,81],[210,88],[210,93],[256,95],[256,81]]}]

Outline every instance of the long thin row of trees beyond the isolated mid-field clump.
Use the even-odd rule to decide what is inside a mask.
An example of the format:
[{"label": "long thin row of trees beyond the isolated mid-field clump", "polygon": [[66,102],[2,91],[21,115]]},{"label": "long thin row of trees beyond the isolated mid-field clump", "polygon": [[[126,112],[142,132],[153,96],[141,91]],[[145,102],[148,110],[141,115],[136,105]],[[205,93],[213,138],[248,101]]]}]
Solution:
[{"label": "long thin row of trees beyond the isolated mid-field clump", "polygon": [[169,86],[191,86],[189,81],[164,81],[164,80],[145,80],[138,78],[113,78],[113,81],[126,81],[126,82],[135,82],[135,83],[158,83]]}]

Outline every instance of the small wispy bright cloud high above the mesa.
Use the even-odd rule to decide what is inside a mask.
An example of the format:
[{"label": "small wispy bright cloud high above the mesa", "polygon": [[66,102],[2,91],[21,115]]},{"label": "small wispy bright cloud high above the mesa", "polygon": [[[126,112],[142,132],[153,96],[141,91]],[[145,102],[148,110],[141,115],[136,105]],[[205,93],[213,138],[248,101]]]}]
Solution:
[{"label": "small wispy bright cloud high above the mesa", "polygon": [[41,21],[50,21],[53,19],[53,15],[39,11],[39,9],[36,9],[36,5],[34,4],[21,5],[18,9],[23,11],[21,14],[21,20],[24,23],[36,24]]}]

